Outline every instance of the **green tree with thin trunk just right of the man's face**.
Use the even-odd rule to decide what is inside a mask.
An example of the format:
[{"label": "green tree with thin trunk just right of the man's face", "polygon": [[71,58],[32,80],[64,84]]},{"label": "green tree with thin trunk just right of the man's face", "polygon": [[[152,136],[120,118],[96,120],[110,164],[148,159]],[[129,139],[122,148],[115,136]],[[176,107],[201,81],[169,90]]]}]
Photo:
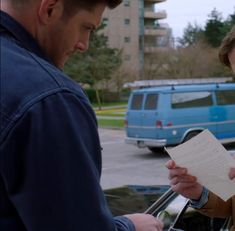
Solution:
[{"label": "green tree with thin trunk just right of the man's face", "polygon": [[96,91],[97,102],[100,97],[97,83],[112,77],[122,63],[121,51],[109,48],[107,37],[97,31],[91,34],[90,46],[84,53],[76,53],[65,66],[65,72],[74,80],[82,84],[89,84]]}]

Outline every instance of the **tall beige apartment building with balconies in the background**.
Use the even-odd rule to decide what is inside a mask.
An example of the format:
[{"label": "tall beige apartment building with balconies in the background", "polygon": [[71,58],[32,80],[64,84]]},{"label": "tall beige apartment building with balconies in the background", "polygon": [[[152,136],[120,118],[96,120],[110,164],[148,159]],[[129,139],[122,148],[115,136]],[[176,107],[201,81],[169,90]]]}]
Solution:
[{"label": "tall beige apartment building with balconies in the background", "polygon": [[109,46],[122,49],[122,69],[135,79],[143,79],[149,59],[170,46],[171,30],[160,22],[167,17],[158,7],[164,1],[123,0],[119,7],[104,13],[103,33]]}]

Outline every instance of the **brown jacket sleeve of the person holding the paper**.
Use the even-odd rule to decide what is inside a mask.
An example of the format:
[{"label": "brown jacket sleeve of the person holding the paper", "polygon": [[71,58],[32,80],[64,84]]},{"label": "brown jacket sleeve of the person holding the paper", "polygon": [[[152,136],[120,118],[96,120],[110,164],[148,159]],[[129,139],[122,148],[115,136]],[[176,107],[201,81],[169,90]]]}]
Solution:
[{"label": "brown jacket sleeve of the person holding the paper", "polygon": [[232,198],[225,202],[210,192],[208,202],[199,211],[210,217],[229,217],[232,215]]}]

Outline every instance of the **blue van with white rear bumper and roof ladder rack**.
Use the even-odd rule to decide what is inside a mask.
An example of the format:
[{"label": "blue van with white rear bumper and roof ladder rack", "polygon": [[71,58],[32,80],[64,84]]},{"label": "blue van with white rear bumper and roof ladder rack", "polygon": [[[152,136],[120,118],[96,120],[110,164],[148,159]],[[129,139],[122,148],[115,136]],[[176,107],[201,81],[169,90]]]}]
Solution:
[{"label": "blue van with white rear bumper and roof ladder rack", "polygon": [[177,145],[209,129],[221,143],[235,141],[235,83],[159,86],[132,91],[126,143]]}]

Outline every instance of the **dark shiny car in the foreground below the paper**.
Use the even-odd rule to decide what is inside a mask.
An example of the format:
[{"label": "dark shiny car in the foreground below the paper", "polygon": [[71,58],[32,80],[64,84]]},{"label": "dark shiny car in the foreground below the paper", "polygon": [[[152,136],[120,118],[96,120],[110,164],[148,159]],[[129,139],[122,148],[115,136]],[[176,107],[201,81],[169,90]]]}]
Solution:
[{"label": "dark shiny car in the foreground below the paper", "polygon": [[230,218],[209,218],[189,207],[168,185],[127,185],[104,191],[113,215],[144,212],[164,223],[164,231],[228,231]]}]

